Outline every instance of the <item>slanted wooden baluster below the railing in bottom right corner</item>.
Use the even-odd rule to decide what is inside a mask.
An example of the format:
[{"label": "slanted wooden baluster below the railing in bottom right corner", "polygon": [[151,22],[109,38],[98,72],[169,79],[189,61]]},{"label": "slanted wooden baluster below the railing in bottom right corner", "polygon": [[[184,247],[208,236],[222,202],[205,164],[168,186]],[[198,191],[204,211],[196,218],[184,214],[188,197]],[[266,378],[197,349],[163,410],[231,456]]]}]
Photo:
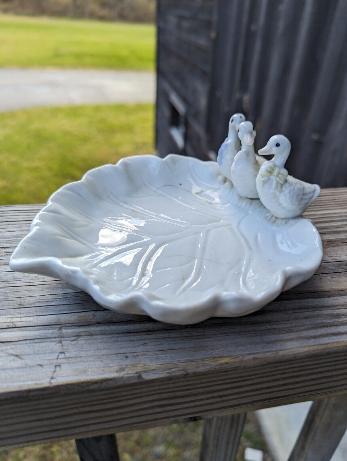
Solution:
[{"label": "slanted wooden baluster below the railing in bottom right corner", "polygon": [[312,403],[288,461],[330,461],[347,429],[347,396]]}]

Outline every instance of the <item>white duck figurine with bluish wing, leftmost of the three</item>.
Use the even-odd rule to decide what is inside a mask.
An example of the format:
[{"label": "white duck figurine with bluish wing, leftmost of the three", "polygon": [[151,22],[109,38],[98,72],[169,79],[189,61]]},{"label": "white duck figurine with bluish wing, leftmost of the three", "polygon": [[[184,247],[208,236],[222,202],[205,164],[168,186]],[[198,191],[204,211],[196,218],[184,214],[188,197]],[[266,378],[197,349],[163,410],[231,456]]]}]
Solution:
[{"label": "white duck figurine with bluish wing, leftmost of the three", "polygon": [[239,137],[237,136],[237,129],[239,124],[244,122],[245,119],[246,118],[244,114],[241,113],[235,113],[231,116],[229,120],[228,135],[218,151],[217,163],[221,170],[221,174],[227,177],[229,180],[231,179],[231,165],[233,165],[234,157],[240,150],[240,141]]}]

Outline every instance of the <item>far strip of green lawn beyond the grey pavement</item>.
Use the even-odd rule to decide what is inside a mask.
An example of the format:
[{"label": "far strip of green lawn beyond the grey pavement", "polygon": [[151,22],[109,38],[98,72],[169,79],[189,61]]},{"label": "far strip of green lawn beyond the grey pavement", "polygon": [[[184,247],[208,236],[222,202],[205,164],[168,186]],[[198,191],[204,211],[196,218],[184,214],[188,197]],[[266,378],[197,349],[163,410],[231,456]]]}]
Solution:
[{"label": "far strip of green lawn beyond the grey pavement", "polygon": [[153,70],[155,26],[0,14],[0,67]]}]

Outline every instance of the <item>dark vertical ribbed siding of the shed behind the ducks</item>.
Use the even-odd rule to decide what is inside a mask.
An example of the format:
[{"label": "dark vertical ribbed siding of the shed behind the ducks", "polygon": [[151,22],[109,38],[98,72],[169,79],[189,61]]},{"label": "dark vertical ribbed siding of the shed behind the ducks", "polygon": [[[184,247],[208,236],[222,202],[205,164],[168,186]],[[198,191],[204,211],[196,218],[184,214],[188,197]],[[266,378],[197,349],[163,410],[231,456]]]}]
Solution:
[{"label": "dark vertical ribbed siding of the shed behind the ducks", "polygon": [[233,112],[256,148],[282,133],[290,174],[347,185],[347,0],[219,0],[207,124],[218,150]]}]

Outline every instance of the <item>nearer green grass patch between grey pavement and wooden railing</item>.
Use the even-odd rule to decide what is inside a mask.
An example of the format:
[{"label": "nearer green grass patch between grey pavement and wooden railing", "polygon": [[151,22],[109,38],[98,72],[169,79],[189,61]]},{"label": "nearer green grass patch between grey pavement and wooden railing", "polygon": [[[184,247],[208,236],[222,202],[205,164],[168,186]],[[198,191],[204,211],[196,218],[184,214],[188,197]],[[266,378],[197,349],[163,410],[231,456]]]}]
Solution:
[{"label": "nearer green grass patch between grey pavement and wooden railing", "polygon": [[85,171],[153,154],[152,104],[0,113],[0,205],[41,203]]}]

